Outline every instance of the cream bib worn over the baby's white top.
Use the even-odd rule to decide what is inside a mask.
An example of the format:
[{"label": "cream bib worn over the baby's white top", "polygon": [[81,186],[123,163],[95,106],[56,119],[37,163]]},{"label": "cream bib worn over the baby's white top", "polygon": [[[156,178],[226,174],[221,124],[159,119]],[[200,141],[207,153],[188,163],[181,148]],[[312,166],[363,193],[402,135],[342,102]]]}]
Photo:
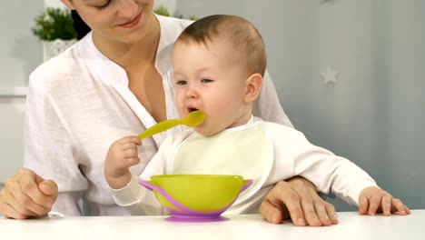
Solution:
[{"label": "cream bib worn over the baby's white top", "polygon": [[262,122],[226,129],[213,136],[193,133],[177,146],[168,162],[173,174],[242,175],[252,185],[234,205],[254,195],[273,165],[272,139]]}]

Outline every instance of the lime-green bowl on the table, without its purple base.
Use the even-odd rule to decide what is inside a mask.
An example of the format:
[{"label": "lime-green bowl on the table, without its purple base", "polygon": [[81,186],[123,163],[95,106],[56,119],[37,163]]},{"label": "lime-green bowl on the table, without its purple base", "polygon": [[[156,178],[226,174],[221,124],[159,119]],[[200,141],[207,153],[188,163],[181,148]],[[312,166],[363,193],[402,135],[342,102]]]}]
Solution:
[{"label": "lime-green bowl on the table, without its purple base", "polygon": [[[153,175],[149,183],[193,211],[210,213],[227,209],[248,182],[241,175]],[[180,210],[158,191],[153,192],[161,205]]]}]

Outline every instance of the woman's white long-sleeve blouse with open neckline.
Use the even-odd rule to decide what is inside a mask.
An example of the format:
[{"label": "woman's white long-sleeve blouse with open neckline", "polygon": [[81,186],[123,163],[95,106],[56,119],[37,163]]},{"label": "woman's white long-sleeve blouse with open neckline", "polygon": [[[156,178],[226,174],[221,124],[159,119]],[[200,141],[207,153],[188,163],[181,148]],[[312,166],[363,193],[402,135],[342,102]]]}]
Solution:
[{"label": "woman's white long-sleeve blouse with open neckline", "polygon": [[[163,77],[167,118],[178,118],[174,103],[173,43],[191,21],[156,16],[161,37],[155,65]],[[291,125],[284,114],[272,80],[265,75],[255,114]],[[115,205],[104,180],[104,159],[109,146],[125,135],[138,135],[156,124],[128,87],[128,76],[94,45],[92,34],[62,55],[40,65],[30,75],[25,107],[24,166],[59,186],[53,210],[64,215],[129,215]],[[143,140],[142,163],[132,168],[140,175],[167,135],[177,126]],[[84,208],[84,207],[83,207]]]}]

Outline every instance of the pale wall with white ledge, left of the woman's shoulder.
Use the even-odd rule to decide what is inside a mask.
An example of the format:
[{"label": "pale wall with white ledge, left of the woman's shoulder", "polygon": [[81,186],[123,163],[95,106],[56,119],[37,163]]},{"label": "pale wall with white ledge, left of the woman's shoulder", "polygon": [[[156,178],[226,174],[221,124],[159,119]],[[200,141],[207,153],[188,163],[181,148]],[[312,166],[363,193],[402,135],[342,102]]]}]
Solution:
[{"label": "pale wall with white ledge, left of the woman's shoulder", "polygon": [[30,28],[43,7],[40,1],[14,0],[0,8],[0,184],[22,165],[25,86],[42,62],[42,47]]}]

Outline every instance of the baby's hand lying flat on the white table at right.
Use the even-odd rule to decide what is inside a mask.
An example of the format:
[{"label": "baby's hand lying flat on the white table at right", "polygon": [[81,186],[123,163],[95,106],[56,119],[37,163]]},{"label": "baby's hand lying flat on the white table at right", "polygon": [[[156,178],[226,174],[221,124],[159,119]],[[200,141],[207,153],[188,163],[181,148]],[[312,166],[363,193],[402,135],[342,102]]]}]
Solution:
[{"label": "baby's hand lying flat on the white table at right", "polygon": [[399,215],[410,215],[409,207],[379,187],[369,186],[361,191],[359,196],[360,215],[375,215],[376,213],[391,215],[395,212],[399,212]]}]

